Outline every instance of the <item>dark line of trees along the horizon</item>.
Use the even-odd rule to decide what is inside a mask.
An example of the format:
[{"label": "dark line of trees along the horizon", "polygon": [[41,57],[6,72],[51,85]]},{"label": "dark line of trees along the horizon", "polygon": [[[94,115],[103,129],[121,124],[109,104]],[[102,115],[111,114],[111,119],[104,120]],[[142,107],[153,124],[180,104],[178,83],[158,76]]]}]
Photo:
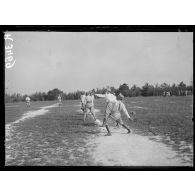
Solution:
[{"label": "dark line of trees along the horizon", "polygon": [[[110,87],[111,91],[115,94],[123,94],[125,97],[135,97],[135,96],[163,96],[166,92],[169,92],[170,95],[180,96],[180,95],[192,95],[193,86],[186,85],[183,81],[178,85],[172,84],[169,85],[167,83],[162,83],[161,85],[151,85],[149,83],[145,83],[144,86],[138,87],[137,85],[133,85],[129,87],[127,83],[120,85],[118,88],[113,86]],[[106,91],[106,87],[92,89],[94,93],[103,94]],[[58,95],[60,94],[63,100],[76,100],[79,99],[81,94],[84,91],[77,90],[76,92],[65,93],[58,88],[53,90],[49,90],[47,93],[45,92],[35,92],[33,94],[25,94],[21,95],[19,93],[7,94],[5,93],[5,103],[8,102],[20,102],[25,101],[25,98],[29,96],[32,101],[50,101],[57,100]]]}]

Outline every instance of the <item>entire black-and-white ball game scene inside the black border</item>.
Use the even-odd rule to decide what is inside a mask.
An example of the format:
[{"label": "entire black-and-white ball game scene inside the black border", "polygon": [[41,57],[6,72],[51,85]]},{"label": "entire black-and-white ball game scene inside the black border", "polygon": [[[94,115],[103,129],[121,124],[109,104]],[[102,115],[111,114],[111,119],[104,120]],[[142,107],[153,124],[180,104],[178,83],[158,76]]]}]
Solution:
[{"label": "entire black-and-white ball game scene inside the black border", "polygon": [[193,32],[94,28],[4,32],[5,167],[192,168]]}]

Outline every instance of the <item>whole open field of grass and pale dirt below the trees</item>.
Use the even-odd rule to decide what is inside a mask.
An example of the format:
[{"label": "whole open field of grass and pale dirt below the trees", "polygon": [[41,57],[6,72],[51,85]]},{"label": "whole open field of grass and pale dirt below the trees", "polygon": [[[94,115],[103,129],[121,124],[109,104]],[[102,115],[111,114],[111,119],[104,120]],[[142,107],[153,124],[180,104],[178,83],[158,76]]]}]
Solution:
[{"label": "whole open field of grass and pale dirt below the trees", "polygon": [[[56,103],[32,102],[30,108],[24,103],[5,105],[6,166],[191,166],[193,163],[192,96],[125,99],[127,110],[135,111],[137,116],[135,122],[123,117],[133,134],[126,134],[110,122],[111,137],[104,136],[106,130],[90,118],[83,123],[78,100],[64,101],[60,108]],[[96,115],[101,121],[105,104],[103,99],[95,100]],[[146,152],[150,159],[144,157]],[[167,160],[158,164],[165,159],[163,155],[168,155]],[[116,162],[115,158],[122,160]]]}]

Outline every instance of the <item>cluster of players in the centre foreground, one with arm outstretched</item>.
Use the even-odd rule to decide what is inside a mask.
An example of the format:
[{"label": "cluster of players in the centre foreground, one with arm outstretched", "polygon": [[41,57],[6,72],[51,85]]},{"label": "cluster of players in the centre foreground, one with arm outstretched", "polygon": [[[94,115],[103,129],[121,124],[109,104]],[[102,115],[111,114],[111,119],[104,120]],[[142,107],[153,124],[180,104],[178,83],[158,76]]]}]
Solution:
[{"label": "cluster of players in the centre foreground, one with arm outstretched", "polygon": [[[111,136],[110,128],[108,126],[108,119],[111,118],[113,121],[116,122],[117,126],[122,126],[127,130],[127,133],[131,133],[130,128],[123,122],[121,117],[121,112],[124,112],[124,114],[127,116],[127,118],[132,121],[133,118],[130,117],[124,103],[122,102],[124,100],[124,96],[122,94],[115,95],[111,92],[110,88],[107,88],[106,93],[103,94],[95,94],[92,91],[88,93],[84,93],[81,95],[81,109],[84,113],[84,122],[86,120],[86,117],[89,113],[94,118],[94,121],[97,121],[95,116],[95,109],[94,109],[94,95],[97,97],[103,97],[106,99],[106,108],[103,118],[103,123],[101,126],[106,127],[107,135]],[[135,114],[135,112],[131,112],[131,114]]]}]

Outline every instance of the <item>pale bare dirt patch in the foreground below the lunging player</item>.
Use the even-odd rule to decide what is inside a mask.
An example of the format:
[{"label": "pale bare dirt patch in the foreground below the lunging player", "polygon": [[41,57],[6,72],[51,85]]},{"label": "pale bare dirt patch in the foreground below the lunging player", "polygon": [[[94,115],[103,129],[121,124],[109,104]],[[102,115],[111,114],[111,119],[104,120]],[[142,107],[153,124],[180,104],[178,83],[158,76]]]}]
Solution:
[{"label": "pale bare dirt patch in the foreground below the lunging player", "polygon": [[[100,112],[98,109],[95,111],[97,115]],[[159,136],[127,134],[121,127],[111,127],[112,136],[105,136],[106,129],[103,127],[98,127],[98,129],[99,135],[91,140],[94,165],[192,166],[184,162],[170,146],[164,144]]]}]

